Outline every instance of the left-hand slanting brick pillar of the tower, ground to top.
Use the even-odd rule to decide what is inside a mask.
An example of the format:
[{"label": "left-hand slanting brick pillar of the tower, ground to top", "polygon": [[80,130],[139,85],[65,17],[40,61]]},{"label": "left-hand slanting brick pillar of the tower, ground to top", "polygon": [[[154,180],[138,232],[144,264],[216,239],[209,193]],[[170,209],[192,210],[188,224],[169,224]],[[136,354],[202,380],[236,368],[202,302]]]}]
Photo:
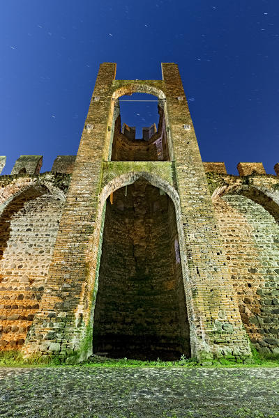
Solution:
[{"label": "left-hand slanting brick pillar of the tower, ground to top", "polygon": [[[116,64],[100,65],[75,168],[54,247],[47,286],[25,355],[86,357],[91,353],[91,305],[100,257],[101,219],[96,221],[104,144],[110,130]],[[94,231],[94,233],[93,233]]]}]

